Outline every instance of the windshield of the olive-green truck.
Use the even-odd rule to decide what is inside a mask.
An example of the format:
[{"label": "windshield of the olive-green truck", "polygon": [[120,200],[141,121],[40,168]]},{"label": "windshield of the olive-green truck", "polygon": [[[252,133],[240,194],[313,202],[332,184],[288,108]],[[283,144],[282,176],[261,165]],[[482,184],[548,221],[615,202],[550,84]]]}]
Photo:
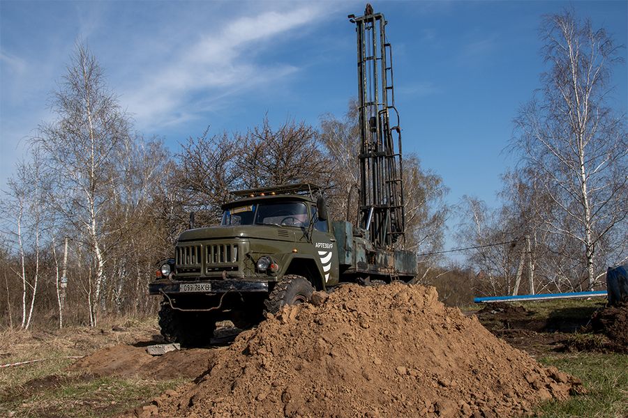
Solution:
[{"label": "windshield of the olive-green truck", "polygon": [[276,225],[307,227],[308,208],[302,202],[256,203],[223,212],[222,225]]}]

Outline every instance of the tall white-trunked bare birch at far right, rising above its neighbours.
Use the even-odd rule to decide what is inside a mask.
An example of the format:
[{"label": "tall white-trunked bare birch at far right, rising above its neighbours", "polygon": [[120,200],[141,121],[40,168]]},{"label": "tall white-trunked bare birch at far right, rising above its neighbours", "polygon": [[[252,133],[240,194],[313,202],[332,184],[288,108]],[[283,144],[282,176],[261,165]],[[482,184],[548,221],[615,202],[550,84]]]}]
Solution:
[{"label": "tall white-trunked bare birch at far right, rising above its neighbours", "polygon": [[541,31],[551,69],[541,76],[539,95],[519,111],[514,146],[553,201],[543,214],[551,233],[581,245],[592,289],[605,269],[599,254],[622,258],[628,250],[625,115],[606,107],[620,55],[604,29],[569,11],[546,17]]}]

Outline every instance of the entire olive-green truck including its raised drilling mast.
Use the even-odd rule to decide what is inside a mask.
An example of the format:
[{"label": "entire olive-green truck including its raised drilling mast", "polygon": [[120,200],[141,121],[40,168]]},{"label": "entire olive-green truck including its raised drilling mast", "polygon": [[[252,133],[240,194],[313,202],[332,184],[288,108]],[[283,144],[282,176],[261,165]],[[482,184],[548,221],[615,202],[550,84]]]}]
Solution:
[{"label": "entire olive-green truck including its raised drilling mast", "polygon": [[417,273],[416,255],[397,249],[405,206],[387,21],[370,5],[349,19],[358,50],[359,221],[331,222],[314,185],[233,192],[220,226],[181,233],[174,258],[149,284],[163,297],[159,323],[168,341],[207,343],[217,320],[246,327],[341,281],[409,281]]}]

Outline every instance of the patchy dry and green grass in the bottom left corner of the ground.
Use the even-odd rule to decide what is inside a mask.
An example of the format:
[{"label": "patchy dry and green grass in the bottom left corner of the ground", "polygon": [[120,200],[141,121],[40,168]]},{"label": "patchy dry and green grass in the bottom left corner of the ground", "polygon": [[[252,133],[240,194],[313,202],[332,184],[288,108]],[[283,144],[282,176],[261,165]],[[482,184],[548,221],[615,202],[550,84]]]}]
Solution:
[{"label": "patchy dry and green grass in the bottom left corner of the ground", "polygon": [[[124,323],[124,327],[137,328],[140,339],[150,335],[151,326],[140,321]],[[110,325],[103,327],[105,331],[110,329]],[[1,364],[45,359],[0,369],[0,417],[110,417],[145,405],[186,381],[94,378],[68,371],[75,359],[66,357],[86,355],[118,343],[122,335],[80,327],[54,333],[0,333]],[[137,341],[134,335],[125,338]]]}]

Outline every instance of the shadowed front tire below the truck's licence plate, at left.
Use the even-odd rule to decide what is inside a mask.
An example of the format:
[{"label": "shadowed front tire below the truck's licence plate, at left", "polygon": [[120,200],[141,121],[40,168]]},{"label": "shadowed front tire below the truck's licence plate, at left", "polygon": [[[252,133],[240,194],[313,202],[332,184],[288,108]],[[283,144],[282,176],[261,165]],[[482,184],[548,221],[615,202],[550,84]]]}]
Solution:
[{"label": "shadowed front tire below the truck's licence plate, at left", "polygon": [[183,312],[164,302],[159,311],[159,326],[165,341],[184,347],[207,346],[216,330],[216,319],[206,312]]}]

